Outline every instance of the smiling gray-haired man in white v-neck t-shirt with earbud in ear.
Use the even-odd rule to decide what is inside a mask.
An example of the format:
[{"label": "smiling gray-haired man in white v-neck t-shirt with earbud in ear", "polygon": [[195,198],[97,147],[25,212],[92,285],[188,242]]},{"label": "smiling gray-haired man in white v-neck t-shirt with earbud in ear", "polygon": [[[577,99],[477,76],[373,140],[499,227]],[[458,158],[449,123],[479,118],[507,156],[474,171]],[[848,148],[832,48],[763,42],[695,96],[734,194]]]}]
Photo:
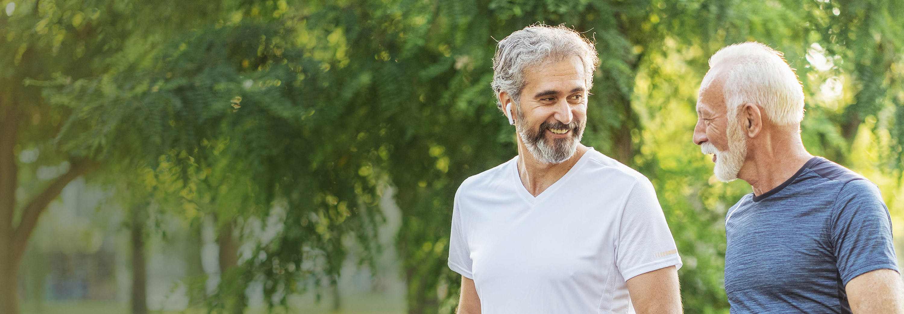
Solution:
[{"label": "smiling gray-haired man in white v-neck t-shirt with earbud in ear", "polygon": [[458,313],[681,313],[681,259],[653,185],[580,144],[598,63],[569,28],[499,42],[493,89],[518,156],[455,196]]}]

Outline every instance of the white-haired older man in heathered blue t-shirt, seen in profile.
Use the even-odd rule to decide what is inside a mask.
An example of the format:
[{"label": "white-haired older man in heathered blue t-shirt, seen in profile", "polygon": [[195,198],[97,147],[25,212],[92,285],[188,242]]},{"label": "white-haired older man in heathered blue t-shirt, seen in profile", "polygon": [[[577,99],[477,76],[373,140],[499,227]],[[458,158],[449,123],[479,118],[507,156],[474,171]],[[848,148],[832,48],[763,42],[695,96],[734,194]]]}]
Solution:
[{"label": "white-haired older man in heathered blue t-shirt, seen in profile", "polygon": [[731,313],[904,313],[889,210],[869,180],[800,138],[804,92],[760,43],[710,59],[693,142],[753,193],[725,217]]}]

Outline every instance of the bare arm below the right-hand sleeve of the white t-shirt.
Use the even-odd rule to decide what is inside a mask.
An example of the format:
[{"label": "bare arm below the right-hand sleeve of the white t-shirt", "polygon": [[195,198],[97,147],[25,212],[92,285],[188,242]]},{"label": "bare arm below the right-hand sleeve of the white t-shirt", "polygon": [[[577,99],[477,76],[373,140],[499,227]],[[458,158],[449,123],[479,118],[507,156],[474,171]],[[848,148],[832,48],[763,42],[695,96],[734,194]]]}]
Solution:
[{"label": "bare arm below the right-hand sleeve of the white t-shirt", "polygon": [[626,283],[638,314],[682,313],[678,270],[674,266],[636,275]]}]

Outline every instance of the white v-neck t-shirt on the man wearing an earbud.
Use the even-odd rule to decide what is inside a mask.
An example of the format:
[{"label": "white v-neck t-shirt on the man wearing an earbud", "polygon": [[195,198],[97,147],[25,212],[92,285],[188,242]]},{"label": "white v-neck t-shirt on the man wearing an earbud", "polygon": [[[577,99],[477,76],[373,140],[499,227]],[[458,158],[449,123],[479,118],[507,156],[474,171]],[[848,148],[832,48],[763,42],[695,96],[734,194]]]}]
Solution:
[{"label": "white v-neck t-shirt on the man wearing an earbud", "polygon": [[592,147],[534,197],[518,157],[458,187],[448,266],[495,313],[634,313],[626,280],[681,258],[653,185]]}]

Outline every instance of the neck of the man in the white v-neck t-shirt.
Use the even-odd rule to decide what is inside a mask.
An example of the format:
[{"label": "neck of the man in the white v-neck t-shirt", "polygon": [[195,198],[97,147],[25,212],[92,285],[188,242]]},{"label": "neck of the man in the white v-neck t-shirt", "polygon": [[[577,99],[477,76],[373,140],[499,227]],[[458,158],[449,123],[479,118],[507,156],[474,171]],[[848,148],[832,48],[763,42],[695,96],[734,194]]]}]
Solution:
[{"label": "neck of the man in the white v-neck t-shirt", "polygon": [[559,164],[544,164],[534,158],[524,146],[521,138],[518,138],[518,175],[521,176],[521,183],[531,195],[540,195],[546,188],[565,176],[589,149],[579,143],[578,149],[568,160]]}]

